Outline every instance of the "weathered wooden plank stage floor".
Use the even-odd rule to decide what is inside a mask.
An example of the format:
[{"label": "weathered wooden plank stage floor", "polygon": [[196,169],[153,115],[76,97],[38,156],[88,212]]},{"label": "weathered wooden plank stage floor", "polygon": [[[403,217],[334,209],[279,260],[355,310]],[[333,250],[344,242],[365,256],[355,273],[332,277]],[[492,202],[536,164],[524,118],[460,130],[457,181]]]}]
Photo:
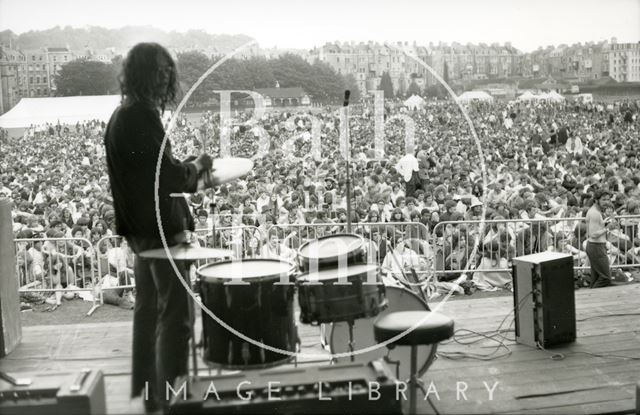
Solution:
[{"label": "weathered wooden plank stage floor", "polygon": [[[510,354],[495,360],[439,356],[423,376],[427,385],[433,382],[432,402],[442,414],[633,413],[640,382],[639,299],[640,284],[581,289],[576,291],[575,343],[544,351],[507,339],[504,343]],[[506,296],[449,301],[439,311],[455,320],[456,329],[491,332],[512,308],[513,299]],[[503,327],[511,320],[512,316],[507,318]],[[299,326],[299,331],[304,350],[321,352],[317,328]],[[504,334],[513,339],[513,331]],[[463,335],[457,333],[460,343],[473,340]],[[108,413],[141,413],[141,401],[129,399],[130,349],[130,322],[26,327],[19,347],[0,360],[0,370],[22,376],[37,371],[101,369],[106,376]],[[447,342],[438,351],[499,356],[507,349],[496,350],[495,342],[480,341],[469,345]],[[485,385],[491,388],[495,382],[490,400]],[[457,389],[466,390],[457,396]],[[422,395],[418,409],[433,413]]]}]

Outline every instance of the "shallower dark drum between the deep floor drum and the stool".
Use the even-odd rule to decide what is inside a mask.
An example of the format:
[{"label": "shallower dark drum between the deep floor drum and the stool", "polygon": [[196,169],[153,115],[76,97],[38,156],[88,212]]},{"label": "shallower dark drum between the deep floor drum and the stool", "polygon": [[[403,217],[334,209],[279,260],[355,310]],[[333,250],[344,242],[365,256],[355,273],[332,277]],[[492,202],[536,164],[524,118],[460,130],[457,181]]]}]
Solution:
[{"label": "shallower dark drum between the deep floor drum and the stool", "polygon": [[385,287],[375,264],[323,269],[297,279],[304,324],[373,317],[386,307]]}]

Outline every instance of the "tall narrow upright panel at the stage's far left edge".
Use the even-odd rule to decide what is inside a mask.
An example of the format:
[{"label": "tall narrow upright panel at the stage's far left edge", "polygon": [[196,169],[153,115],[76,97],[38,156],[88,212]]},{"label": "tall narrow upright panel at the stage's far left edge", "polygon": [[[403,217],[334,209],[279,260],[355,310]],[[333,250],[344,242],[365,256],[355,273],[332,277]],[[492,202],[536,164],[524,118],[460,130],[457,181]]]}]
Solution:
[{"label": "tall narrow upright panel at the stage's far left edge", "polygon": [[11,200],[0,198],[0,357],[22,339],[11,205]]}]

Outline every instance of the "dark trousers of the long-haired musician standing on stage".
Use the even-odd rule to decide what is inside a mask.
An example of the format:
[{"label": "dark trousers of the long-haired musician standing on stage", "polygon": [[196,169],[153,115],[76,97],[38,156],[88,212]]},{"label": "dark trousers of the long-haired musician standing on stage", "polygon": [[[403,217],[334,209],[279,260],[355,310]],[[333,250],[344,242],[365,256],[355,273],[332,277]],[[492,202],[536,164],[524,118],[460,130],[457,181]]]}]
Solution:
[{"label": "dark trousers of the long-haired musician standing on stage", "polygon": [[[188,279],[187,265],[181,261],[175,264],[181,277]],[[189,294],[168,260],[136,255],[134,271],[131,395],[139,396],[148,382],[149,399],[159,400],[166,407],[166,384],[173,386],[175,379],[188,370]]]}]

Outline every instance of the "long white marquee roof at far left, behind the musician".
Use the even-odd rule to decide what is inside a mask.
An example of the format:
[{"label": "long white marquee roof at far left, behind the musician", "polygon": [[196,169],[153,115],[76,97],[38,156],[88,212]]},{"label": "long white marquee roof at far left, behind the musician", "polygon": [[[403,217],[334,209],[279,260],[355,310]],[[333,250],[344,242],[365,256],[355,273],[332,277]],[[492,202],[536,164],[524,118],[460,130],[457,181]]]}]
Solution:
[{"label": "long white marquee roof at far left, behind the musician", "polygon": [[75,124],[98,119],[109,121],[120,105],[120,95],[22,98],[0,116],[2,128],[27,128],[41,124]]}]

